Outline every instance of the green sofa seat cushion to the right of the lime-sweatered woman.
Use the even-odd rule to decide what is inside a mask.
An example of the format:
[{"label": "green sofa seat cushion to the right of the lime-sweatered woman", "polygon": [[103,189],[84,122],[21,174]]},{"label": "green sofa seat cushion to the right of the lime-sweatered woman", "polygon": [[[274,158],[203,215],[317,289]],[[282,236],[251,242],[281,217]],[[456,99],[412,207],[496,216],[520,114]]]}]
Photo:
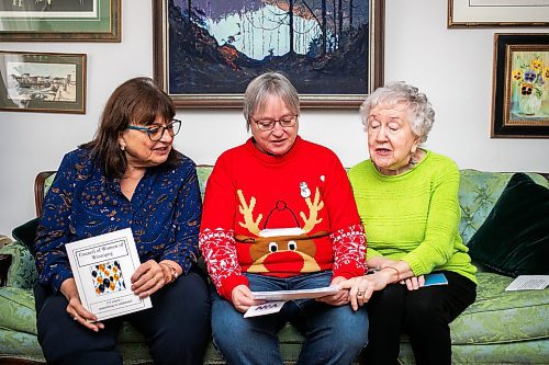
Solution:
[{"label": "green sofa seat cushion to the right of the lime-sweatered woman", "polygon": [[549,339],[549,292],[505,292],[512,277],[478,273],[477,300],[450,323],[452,344]]}]

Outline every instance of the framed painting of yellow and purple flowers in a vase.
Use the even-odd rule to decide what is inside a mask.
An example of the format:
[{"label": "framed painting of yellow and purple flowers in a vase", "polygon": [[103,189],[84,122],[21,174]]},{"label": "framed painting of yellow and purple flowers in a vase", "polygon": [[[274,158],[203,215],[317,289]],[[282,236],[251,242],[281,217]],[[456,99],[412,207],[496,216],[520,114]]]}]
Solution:
[{"label": "framed painting of yellow and purple flowers in a vase", "polygon": [[549,34],[494,35],[492,133],[549,138]]}]

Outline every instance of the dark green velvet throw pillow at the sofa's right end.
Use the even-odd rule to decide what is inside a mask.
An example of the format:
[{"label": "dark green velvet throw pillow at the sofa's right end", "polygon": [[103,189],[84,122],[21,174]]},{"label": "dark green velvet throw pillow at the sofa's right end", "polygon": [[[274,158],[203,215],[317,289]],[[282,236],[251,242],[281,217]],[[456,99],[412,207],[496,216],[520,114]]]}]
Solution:
[{"label": "dark green velvet throw pillow at the sofa's right end", "polygon": [[468,247],[475,262],[497,273],[549,274],[549,189],[515,173]]}]

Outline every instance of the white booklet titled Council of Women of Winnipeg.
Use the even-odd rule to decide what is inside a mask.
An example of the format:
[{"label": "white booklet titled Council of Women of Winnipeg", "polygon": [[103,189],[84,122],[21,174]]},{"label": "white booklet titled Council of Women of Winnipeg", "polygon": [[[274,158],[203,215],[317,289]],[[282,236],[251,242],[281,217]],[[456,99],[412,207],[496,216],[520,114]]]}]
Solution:
[{"label": "white booklet titled Council of Women of Winnipeg", "polygon": [[65,244],[82,306],[104,320],[153,307],[130,278],[141,261],[132,229],[125,228]]}]

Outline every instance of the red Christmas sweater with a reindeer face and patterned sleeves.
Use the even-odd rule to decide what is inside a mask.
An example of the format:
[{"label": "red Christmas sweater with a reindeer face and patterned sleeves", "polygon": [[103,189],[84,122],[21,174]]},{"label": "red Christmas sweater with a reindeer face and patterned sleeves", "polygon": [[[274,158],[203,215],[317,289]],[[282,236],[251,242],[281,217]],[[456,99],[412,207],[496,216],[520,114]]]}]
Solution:
[{"label": "red Christmas sweater with a reindeer face and patterned sleeves", "polygon": [[205,190],[200,249],[228,300],[248,285],[243,272],[365,272],[366,237],[346,171],[332,150],[300,137],[284,156],[261,152],[251,138],[220,156]]}]

